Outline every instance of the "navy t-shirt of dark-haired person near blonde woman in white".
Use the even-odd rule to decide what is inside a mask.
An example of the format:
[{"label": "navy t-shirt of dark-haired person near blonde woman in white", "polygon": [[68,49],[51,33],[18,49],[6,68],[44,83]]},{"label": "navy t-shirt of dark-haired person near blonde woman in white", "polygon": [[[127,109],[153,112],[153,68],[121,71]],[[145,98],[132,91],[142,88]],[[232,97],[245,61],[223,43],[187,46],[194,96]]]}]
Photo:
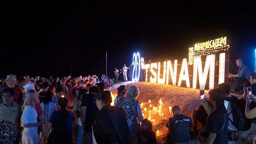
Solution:
[{"label": "navy t-shirt of dark-haired person near blonde woman in white", "polygon": [[73,114],[67,111],[67,117],[61,117],[60,111],[51,114],[49,122],[53,124],[53,142],[56,144],[72,144]]}]

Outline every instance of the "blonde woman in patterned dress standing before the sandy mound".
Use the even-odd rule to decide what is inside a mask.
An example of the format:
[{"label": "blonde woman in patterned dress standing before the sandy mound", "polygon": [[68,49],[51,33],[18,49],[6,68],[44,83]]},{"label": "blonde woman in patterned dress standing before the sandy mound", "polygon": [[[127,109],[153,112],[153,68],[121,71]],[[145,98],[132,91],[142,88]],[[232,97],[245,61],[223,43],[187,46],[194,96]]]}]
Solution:
[{"label": "blonde woman in patterned dress standing before the sandy mound", "polygon": [[139,96],[139,89],[132,85],[127,90],[127,97],[118,101],[118,107],[124,109],[127,124],[129,126],[131,137],[129,144],[142,144],[141,125],[143,121],[141,106],[139,101],[135,100]]}]

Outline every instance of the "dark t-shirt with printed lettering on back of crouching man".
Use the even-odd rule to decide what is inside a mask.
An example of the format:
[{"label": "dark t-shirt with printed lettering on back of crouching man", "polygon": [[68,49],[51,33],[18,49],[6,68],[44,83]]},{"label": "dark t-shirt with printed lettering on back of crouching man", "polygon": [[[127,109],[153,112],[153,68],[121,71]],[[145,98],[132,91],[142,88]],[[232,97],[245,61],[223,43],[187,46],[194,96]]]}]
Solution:
[{"label": "dark t-shirt with printed lettering on back of crouching man", "polygon": [[191,141],[191,118],[186,115],[169,118],[170,131],[173,133],[174,143]]}]

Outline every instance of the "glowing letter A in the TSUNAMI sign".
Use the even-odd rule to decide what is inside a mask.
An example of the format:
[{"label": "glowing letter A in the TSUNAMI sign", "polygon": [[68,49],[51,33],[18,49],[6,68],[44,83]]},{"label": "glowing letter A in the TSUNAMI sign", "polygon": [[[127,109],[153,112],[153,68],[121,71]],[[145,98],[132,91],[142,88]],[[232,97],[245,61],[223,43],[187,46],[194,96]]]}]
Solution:
[{"label": "glowing letter A in the TSUNAMI sign", "polygon": [[188,75],[188,62],[186,61],[186,58],[184,58],[182,61],[181,72],[179,73],[179,80],[178,80],[177,86],[181,86],[182,80],[186,81],[186,87],[190,87],[189,75]]}]

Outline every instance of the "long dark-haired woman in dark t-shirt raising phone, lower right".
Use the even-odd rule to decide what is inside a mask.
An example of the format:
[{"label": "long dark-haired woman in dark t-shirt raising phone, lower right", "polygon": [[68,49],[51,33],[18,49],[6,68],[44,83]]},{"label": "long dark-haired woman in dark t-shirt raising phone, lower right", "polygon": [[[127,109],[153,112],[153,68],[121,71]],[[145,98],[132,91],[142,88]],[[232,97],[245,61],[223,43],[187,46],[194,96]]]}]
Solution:
[{"label": "long dark-haired woman in dark t-shirt raising phone, lower right", "polygon": [[202,144],[228,144],[228,112],[224,105],[225,93],[222,89],[209,91],[209,102],[213,111],[207,118],[205,132],[199,133]]}]

